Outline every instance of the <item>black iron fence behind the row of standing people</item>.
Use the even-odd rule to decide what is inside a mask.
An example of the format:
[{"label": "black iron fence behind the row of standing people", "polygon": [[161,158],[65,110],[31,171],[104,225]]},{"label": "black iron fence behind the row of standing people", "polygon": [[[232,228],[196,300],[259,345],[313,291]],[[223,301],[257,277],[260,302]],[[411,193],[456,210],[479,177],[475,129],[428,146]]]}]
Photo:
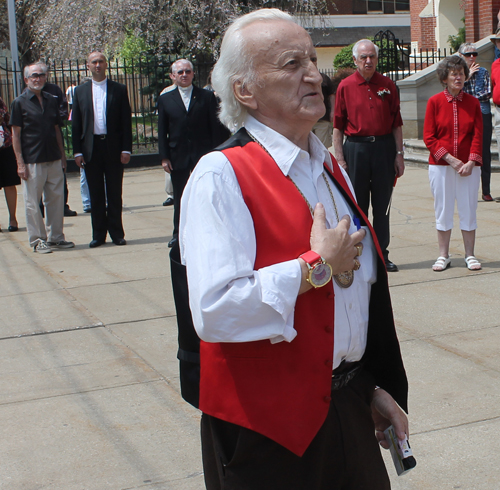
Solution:
[{"label": "black iron fence behind the row of standing people", "polygon": [[[384,38],[385,39],[385,38]],[[387,67],[386,74],[394,81],[406,78],[433,63],[438,62],[450,50],[411,51],[408,44],[396,40],[381,41],[379,67]],[[112,60],[108,65],[108,76],[111,80],[123,83],[128,88],[132,107],[133,149],[134,153],[156,153],[158,149],[158,114],[157,100],[161,91],[172,84],[170,66],[174,56],[139,57],[131,60]],[[195,71],[195,82],[203,87],[207,84],[213,62],[192,60]],[[48,80],[61,87],[71,102],[71,87],[85,83],[91,77],[85,60],[55,61],[48,63]],[[332,77],[334,69],[321,70]],[[25,87],[22,71],[13,69],[8,58],[0,59],[0,96],[10,107],[16,97],[15,80],[20,81],[19,88]],[[71,108],[71,104],[70,104]],[[66,153],[72,156],[71,124],[63,128]]]}]

